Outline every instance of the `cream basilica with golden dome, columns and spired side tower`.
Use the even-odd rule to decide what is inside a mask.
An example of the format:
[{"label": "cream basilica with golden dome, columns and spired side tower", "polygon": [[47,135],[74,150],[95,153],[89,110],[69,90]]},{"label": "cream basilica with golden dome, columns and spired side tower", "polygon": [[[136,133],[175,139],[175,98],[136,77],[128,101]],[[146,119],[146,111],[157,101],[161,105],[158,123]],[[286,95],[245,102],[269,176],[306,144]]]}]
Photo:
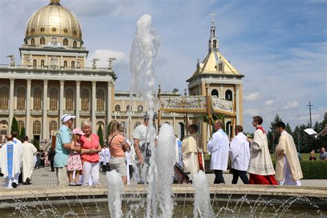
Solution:
[{"label": "cream basilica with golden dome, columns and spired side tower", "polygon": [[[195,63],[195,72],[187,79],[186,96],[215,96],[230,102],[233,115],[225,117],[226,131],[232,134],[233,124],[243,122],[242,75],[219,51],[215,22],[212,19],[208,41],[208,55]],[[83,32],[77,17],[50,0],[47,6],[32,14],[26,25],[23,45],[19,48],[20,61],[9,55],[9,63],[0,65],[0,136],[10,131],[15,117],[19,128],[34,139],[50,139],[61,125],[64,114],[75,115],[75,127],[81,121],[92,121],[92,130],[99,126],[106,135],[110,120],[126,124],[126,134],[132,139],[132,130],[143,121],[146,102],[128,91],[115,90],[119,72],[112,69],[115,57],[108,59],[108,68],[98,68],[97,59],[86,67],[88,50],[83,46]],[[162,97],[184,97],[178,90],[160,91]],[[208,126],[199,115],[182,112],[160,112],[160,122],[174,126],[179,138],[186,134],[185,124],[197,123],[204,141]],[[234,122],[234,123],[232,123]]]}]

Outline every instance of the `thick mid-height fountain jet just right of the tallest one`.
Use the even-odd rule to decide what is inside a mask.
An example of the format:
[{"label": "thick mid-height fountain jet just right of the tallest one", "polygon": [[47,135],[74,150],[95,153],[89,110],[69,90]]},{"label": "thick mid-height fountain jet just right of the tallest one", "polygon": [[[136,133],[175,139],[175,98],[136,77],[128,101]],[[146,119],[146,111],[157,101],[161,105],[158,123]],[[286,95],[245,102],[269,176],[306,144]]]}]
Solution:
[{"label": "thick mid-height fountain jet just right of the tallest one", "polygon": [[174,202],[172,199],[172,177],[174,176],[175,135],[172,126],[164,123],[159,132],[158,146],[155,150],[157,165],[157,199],[161,209],[161,217],[172,217]]}]

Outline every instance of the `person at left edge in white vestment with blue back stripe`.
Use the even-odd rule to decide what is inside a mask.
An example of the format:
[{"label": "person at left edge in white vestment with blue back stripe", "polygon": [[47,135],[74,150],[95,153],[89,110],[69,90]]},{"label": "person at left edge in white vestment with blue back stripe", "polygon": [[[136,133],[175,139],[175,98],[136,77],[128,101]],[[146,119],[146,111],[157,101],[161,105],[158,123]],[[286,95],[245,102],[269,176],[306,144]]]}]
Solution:
[{"label": "person at left edge in white vestment with blue back stripe", "polygon": [[8,135],[7,138],[8,142],[1,147],[0,168],[5,178],[5,188],[17,188],[23,148],[14,143],[12,135]]}]

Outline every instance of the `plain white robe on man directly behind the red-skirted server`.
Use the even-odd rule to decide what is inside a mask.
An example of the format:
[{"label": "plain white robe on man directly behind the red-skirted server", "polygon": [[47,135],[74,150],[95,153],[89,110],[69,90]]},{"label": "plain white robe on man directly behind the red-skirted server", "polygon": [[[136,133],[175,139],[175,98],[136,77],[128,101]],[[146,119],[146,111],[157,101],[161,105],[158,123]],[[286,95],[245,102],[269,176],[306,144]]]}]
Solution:
[{"label": "plain white robe on man directly behind the red-skirted server", "polygon": [[248,170],[250,161],[250,144],[246,141],[246,135],[239,132],[230,142],[229,156],[231,167],[235,170]]}]

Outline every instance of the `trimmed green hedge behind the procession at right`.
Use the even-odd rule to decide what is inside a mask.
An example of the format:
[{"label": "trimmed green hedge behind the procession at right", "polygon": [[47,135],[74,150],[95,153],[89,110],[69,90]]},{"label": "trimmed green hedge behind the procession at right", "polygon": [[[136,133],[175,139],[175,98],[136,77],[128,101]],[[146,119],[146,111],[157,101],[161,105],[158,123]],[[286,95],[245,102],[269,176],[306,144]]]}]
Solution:
[{"label": "trimmed green hedge behind the procession at right", "polygon": [[[276,161],[273,160],[275,166]],[[303,179],[327,179],[327,161],[300,161],[303,173]],[[210,160],[205,160],[206,173],[212,173],[209,170]]]}]

